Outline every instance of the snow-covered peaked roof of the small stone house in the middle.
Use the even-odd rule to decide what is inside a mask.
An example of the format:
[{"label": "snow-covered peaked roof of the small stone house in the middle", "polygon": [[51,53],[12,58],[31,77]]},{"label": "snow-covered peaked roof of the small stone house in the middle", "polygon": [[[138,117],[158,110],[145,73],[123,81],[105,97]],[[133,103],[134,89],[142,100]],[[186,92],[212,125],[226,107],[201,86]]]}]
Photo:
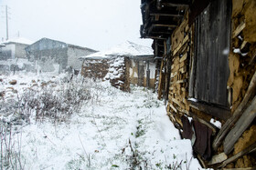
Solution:
[{"label": "snow-covered peaked roof of the small stone house in the middle", "polygon": [[145,56],[153,55],[153,50],[144,45],[137,45],[126,41],[123,44],[116,45],[106,51],[101,51],[91,55],[82,56],[84,59],[107,59],[115,56]]}]

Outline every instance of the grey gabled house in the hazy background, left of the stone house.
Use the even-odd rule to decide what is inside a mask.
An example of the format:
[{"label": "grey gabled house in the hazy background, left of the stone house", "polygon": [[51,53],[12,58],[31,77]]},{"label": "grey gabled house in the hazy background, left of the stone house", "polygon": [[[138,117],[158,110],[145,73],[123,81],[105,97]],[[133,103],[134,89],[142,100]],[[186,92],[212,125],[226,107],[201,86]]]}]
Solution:
[{"label": "grey gabled house in the hazy background, left of the stone house", "polygon": [[35,62],[39,72],[61,72],[66,69],[80,70],[80,56],[91,55],[97,51],[78,45],[42,38],[25,48],[27,58]]}]

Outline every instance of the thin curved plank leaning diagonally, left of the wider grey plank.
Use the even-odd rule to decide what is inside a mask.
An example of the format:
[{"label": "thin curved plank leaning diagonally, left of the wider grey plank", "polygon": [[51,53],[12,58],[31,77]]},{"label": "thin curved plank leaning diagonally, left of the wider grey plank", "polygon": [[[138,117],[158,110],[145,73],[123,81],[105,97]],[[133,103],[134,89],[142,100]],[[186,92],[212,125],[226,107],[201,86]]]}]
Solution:
[{"label": "thin curved plank leaning diagonally, left of the wider grey plank", "polygon": [[238,106],[238,108],[235,110],[233,115],[226,121],[224,125],[222,125],[218,135],[215,137],[213,141],[213,149],[217,150],[221,142],[223,141],[224,137],[229,133],[230,128],[236,123],[236,121],[239,119],[240,115],[243,113],[244,107],[248,104],[248,101],[251,98],[251,95],[255,95],[256,93],[256,72],[251,78],[250,85],[248,87],[248,90],[246,94],[244,95],[242,102]]}]

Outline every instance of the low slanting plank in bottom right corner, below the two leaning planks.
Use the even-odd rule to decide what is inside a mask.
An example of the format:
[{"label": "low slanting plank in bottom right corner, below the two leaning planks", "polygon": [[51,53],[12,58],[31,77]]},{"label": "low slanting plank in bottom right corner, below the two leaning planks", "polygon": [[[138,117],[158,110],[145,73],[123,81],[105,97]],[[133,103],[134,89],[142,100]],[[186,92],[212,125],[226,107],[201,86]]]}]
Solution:
[{"label": "low slanting plank in bottom right corner, below the two leaning planks", "polygon": [[233,156],[229,157],[229,159],[227,159],[221,165],[219,165],[219,168],[224,167],[224,166],[228,165],[229,163],[232,163],[232,162],[238,160],[243,155],[247,155],[247,154],[250,154],[253,152],[256,152],[256,143],[253,143],[252,145],[250,145],[249,147],[247,147],[246,149],[244,149],[237,155],[233,155]]}]

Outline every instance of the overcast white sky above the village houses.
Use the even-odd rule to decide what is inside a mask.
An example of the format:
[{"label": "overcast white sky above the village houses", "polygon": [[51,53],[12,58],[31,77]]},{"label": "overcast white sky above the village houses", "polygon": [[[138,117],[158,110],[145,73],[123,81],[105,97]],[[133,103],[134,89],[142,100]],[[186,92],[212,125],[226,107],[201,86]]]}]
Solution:
[{"label": "overcast white sky above the village houses", "polygon": [[0,0],[0,37],[5,35],[5,5],[10,7],[9,38],[19,33],[32,41],[48,37],[105,50],[140,39],[140,0]]}]

